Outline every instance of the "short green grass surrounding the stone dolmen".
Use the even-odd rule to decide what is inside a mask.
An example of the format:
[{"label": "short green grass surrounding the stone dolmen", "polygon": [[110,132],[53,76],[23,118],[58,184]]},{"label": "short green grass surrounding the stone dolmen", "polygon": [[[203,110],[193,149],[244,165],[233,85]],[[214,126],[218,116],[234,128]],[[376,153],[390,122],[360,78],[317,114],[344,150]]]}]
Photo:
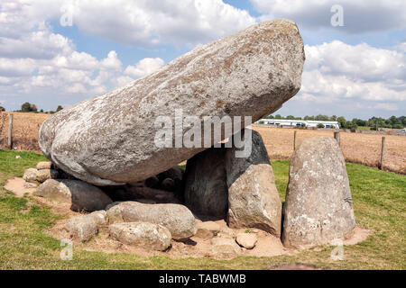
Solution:
[{"label": "short green grass surrounding the stone dolmen", "polygon": [[[15,158],[20,155],[21,158]],[[88,252],[74,247],[73,260],[60,260],[60,241],[44,230],[56,215],[32,197],[16,198],[5,190],[6,179],[43,160],[32,152],[0,150],[0,269],[272,269],[304,264],[325,269],[405,269],[406,176],[347,164],[355,217],[373,235],[344,247],[344,260],[333,261],[333,247],[317,247],[294,256],[210,258],[140,257],[124,253]],[[284,200],[289,161],[272,161],[276,185]]]}]

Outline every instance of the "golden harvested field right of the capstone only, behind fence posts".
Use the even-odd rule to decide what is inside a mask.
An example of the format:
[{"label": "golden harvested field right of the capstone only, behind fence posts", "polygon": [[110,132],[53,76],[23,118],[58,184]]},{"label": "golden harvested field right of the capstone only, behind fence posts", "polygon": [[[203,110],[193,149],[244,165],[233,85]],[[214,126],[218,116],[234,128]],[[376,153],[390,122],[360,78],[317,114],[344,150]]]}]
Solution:
[{"label": "golden harvested field right of the capstone only, behind fence posts", "polygon": [[[262,136],[272,160],[289,159],[293,153],[294,129],[253,125]],[[333,137],[334,130],[297,130],[296,146],[309,137]],[[340,131],[340,143],[346,161],[377,167],[381,157],[382,137],[385,137],[383,170],[406,175],[406,136],[364,134]]]}]

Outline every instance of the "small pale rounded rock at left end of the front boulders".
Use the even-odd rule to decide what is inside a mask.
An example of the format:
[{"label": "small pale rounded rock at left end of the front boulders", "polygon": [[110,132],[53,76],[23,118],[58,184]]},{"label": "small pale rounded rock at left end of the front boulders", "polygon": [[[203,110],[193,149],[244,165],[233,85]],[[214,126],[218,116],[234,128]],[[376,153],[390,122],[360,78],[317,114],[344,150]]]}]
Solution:
[{"label": "small pale rounded rock at left end of the front boulders", "polygon": [[70,218],[65,223],[65,229],[69,231],[70,237],[82,242],[90,240],[98,231],[97,221],[88,215]]}]

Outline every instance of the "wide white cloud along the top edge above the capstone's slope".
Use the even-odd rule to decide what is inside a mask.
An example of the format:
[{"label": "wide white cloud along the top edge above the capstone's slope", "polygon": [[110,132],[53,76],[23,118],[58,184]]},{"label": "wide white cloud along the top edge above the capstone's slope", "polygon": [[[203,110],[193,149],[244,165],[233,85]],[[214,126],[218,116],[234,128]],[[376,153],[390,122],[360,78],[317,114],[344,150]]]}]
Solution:
[{"label": "wide white cloud along the top edge above the capstone's slope", "polygon": [[[7,1],[7,0],[5,0]],[[60,22],[72,12],[79,31],[137,46],[195,46],[255,23],[247,11],[222,0],[25,0],[26,14]]]}]

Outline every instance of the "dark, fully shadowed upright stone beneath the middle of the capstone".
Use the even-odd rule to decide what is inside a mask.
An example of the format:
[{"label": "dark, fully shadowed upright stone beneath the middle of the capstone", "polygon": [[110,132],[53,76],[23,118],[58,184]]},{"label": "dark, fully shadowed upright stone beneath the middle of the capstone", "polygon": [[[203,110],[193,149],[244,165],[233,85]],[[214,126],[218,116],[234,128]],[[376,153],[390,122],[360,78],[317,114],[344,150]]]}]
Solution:
[{"label": "dark, fully shadowed upright stone beneath the middle of the capstone", "polygon": [[191,211],[225,217],[228,188],[225,168],[226,148],[208,148],[191,157],[185,170],[185,203]]}]

